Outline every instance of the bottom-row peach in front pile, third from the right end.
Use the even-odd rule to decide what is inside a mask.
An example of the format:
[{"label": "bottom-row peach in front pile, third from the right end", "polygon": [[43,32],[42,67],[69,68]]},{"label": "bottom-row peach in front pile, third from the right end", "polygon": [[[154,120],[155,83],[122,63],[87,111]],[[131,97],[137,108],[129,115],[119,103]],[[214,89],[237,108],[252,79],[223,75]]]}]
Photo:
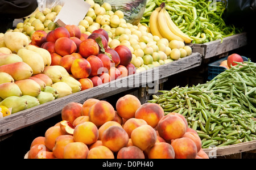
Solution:
[{"label": "bottom-row peach in front pile, third from the right end", "polygon": [[149,159],[174,159],[174,148],[166,142],[156,142],[153,147],[148,150]]}]

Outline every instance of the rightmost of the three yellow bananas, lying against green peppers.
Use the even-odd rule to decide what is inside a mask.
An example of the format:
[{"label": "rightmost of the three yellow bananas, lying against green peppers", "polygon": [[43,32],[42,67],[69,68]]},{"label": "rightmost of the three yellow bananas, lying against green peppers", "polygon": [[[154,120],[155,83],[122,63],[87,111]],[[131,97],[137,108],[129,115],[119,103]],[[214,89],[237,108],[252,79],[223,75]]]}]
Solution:
[{"label": "rightmost of the three yellow bananas, lying against green peppers", "polygon": [[188,35],[186,35],[184,32],[182,32],[176,25],[175,23],[172,21],[169,13],[166,11],[166,8],[164,7],[163,8],[163,11],[164,11],[164,15],[166,16],[166,22],[167,22],[167,25],[169,27],[169,29],[171,29],[171,31],[181,37],[181,39],[183,39],[185,41],[185,43],[191,43],[192,39],[191,37],[189,37]]}]

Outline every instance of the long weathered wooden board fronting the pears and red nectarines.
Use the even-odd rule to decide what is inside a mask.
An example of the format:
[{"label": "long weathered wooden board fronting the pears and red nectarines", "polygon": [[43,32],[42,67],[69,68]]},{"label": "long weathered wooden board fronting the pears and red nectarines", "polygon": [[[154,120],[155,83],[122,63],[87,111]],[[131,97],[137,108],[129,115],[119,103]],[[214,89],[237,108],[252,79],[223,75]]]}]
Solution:
[{"label": "long weathered wooden board fronting the pears and red nectarines", "polygon": [[[89,88],[88,90],[76,92],[75,94],[11,114],[10,116],[0,119],[0,139],[13,131],[57,116],[61,113],[61,109],[71,102],[83,103],[89,98],[104,99],[104,97],[119,94],[133,88],[152,88],[153,85],[159,88],[159,84],[162,83],[164,79],[168,78],[168,76],[200,66],[201,61],[202,55],[200,53],[192,53],[190,56],[177,61],[166,63],[165,65],[153,69],[129,75],[97,87]],[[152,82],[154,82],[154,84]],[[148,86],[148,84],[150,84],[150,86]],[[154,92],[157,91],[157,88],[154,89]],[[145,97],[144,95],[141,96]]]}]

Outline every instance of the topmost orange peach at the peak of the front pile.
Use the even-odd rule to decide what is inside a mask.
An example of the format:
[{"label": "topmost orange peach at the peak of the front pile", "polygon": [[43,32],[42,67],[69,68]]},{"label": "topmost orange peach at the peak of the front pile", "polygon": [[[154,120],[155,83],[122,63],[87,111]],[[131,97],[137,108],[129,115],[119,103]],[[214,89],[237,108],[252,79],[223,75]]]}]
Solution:
[{"label": "topmost orange peach at the peak of the front pile", "polygon": [[141,101],[134,95],[125,95],[117,100],[115,107],[119,116],[129,119],[135,117],[135,112],[141,107]]}]

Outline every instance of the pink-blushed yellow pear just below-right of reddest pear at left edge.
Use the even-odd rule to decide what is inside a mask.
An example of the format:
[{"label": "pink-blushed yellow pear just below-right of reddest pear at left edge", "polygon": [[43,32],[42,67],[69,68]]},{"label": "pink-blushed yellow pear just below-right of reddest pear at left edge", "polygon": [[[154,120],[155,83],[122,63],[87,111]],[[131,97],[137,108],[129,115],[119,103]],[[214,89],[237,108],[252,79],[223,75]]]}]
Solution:
[{"label": "pink-blushed yellow pear just below-right of reddest pear at left edge", "polygon": [[14,82],[19,86],[22,91],[22,95],[38,96],[41,92],[41,87],[35,80],[25,79]]}]

